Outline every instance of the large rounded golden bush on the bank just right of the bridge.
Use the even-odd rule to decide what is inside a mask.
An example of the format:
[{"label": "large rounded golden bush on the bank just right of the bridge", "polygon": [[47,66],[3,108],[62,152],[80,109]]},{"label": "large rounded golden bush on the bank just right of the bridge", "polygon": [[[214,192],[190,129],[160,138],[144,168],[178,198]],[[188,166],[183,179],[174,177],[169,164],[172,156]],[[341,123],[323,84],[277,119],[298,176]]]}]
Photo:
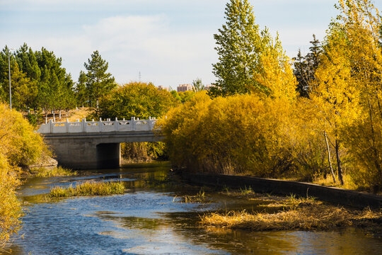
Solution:
[{"label": "large rounded golden bush on the bank just right of the bridge", "polygon": [[[305,109],[304,109],[305,107]],[[296,112],[306,112],[306,117]],[[198,93],[161,120],[173,164],[199,172],[299,176],[328,173],[323,136],[304,101]],[[311,116],[310,116],[311,117]]]}]

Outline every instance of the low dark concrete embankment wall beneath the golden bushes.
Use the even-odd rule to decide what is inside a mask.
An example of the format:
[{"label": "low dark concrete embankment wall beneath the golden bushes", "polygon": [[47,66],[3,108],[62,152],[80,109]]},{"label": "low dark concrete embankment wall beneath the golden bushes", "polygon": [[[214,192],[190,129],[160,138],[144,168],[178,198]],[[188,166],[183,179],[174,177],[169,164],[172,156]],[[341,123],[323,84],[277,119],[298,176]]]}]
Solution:
[{"label": "low dark concrete embankment wall beneath the golden bushes", "polygon": [[382,208],[382,196],[311,183],[225,174],[192,174],[187,172],[183,172],[183,179],[199,185],[229,188],[250,187],[253,191],[260,193],[312,196],[339,205],[350,205],[357,208]]}]

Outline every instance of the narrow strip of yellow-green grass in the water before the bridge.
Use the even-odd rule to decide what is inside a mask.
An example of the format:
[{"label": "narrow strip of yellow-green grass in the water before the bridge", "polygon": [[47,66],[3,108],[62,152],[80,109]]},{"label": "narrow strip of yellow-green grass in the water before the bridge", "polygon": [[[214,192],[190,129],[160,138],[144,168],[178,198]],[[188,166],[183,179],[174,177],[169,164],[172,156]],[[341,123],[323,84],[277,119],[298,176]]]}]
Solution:
[{"label": "narrow strip of yellow-green grass in the water before the bridge", "polygon": [[110,196],[125,193],[122,182],[94,182],[86,181],[76,187],[54,187],[50,190],[50,198],[68,198],[73,196]]}]

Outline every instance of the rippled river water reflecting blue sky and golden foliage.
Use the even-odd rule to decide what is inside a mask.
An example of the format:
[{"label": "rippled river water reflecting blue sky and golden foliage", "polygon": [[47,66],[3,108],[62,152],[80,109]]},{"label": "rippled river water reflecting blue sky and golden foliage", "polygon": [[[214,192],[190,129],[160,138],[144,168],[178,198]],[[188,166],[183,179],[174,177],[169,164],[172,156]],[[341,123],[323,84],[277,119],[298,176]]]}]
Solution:
[{"label": "rippled river water reflecting blue sky and golden foliage", "polygon": [[[207,191],[214,203],[177,203],[199,187],[168,178],[167,164],[85,171],[76,177],[32,179],[19,197],[23,229],[11,254],[381,254],[382,240],[361,229],[330,232],[247,232],[205,229],[199,215],[255,208],[254,202]],[[52,186],[81,181],[124,181],[124,195],[36,203]]]}]

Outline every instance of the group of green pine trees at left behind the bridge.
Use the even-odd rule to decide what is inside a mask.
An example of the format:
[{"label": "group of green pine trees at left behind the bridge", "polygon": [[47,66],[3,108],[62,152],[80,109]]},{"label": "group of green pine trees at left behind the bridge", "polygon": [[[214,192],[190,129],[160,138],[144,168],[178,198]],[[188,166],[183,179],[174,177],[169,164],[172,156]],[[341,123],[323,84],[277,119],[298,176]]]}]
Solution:
[{"label": "group of green pine trees at left behind the bridge", "polygon": [[9,102],[9,67],[11,68],[12,106],[18,111],[45,113],[98,106],[98,100],[115,86],[115,79],[108,70],[108,62],[98,51],[84,63],[79,81],[62,67],[62,58],[42,47],[33,51],[22,45],[15,52],[6,46],[0,52],[0,99]]}]

